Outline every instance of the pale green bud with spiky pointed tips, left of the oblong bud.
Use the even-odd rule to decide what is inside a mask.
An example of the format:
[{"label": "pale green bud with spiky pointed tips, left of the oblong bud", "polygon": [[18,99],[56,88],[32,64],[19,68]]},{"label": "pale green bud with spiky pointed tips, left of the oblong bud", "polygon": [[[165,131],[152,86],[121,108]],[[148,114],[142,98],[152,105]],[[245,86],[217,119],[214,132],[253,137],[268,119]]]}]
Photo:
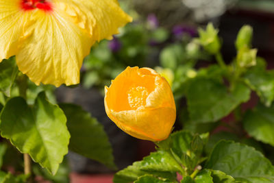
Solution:
[{"label": "pale green bud with spiky pointed tips, left of the oblong bud", "polygon": [[221,49],[221,41],[218,36],[218,29],[214,29],[212,23],[209,23],[206,30],[198,29],[199,42],[203,46],[203,49],[211,54],[216,54]]}]

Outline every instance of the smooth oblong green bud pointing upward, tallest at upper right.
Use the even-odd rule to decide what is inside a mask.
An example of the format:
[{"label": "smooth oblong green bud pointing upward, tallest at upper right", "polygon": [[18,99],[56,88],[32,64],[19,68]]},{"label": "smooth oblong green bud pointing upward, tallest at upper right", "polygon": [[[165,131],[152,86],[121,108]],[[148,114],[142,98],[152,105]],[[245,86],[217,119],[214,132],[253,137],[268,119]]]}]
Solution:
[{"label": "smooth oblong green bud pointing upward, tallest at upper right", "polygon": [[243,47],[250,48],[252,37],[253,37],[252,27],[249,25],[244,25],[238,32],[238,36],[235,42],[236,49],[240,50]]}]

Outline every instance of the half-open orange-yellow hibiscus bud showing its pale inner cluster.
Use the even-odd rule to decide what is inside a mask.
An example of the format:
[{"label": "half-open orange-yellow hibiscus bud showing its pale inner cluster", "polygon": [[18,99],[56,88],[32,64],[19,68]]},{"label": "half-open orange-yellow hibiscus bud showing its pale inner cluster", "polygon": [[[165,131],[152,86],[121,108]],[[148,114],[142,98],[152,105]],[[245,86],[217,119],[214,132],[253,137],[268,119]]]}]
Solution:
[{"label": "half-open orange-yellow hibiscus bud showing its pale inner cluster", "polygon": [[168,138],[176,118],[169,83],[138,66],[127,67],[105,86],[105,112],[127,134],[149,141]]}]

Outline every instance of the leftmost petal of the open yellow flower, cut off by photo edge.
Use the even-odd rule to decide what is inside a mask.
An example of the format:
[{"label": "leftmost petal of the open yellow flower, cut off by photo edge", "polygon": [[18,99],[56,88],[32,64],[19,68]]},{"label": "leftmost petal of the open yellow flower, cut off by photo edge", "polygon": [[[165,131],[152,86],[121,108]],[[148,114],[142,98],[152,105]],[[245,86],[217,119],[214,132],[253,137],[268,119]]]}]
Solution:
[{"label": "leftmost petal of the open yellow flower, cut off by photo edge", "polygon": [[20,0],[0,1],[0,62],[18,51],[23,23]]}]

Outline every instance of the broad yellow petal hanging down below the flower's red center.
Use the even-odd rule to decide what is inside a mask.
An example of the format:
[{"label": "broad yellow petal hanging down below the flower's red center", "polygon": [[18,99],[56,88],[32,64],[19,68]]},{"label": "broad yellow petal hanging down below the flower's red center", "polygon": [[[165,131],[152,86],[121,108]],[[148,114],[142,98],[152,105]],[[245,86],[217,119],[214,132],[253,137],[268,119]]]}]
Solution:
[{"label": "broad yellow petal hanging down below the flower's red center", "polygon": [[23,16],[28,21],[16,54],[18,69],[35,84],[78,84],[82,61],[95,40],[61,12],[34,10]]}]

